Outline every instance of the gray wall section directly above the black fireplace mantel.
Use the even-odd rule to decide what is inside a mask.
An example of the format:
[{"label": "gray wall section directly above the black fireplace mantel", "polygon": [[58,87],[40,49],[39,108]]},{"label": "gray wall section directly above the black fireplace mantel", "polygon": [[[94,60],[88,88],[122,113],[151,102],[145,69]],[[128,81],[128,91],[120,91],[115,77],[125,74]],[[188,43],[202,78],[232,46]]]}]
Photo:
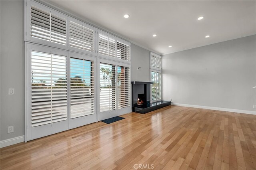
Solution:
[{"label": "gray wall section directly above the black fireplace mantel", "polygon": [[[150,81],[149,76],[150,51],[131,44],[132,81]],[[137,67],[141,67],[137,70]]]}]

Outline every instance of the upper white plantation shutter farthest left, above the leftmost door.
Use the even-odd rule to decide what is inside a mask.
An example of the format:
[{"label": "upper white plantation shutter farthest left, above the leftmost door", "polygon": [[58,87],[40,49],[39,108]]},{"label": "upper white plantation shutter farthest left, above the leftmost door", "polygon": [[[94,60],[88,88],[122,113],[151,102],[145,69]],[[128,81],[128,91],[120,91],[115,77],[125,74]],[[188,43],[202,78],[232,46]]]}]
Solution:
[{"label": "upper white plantation shutter farthest left, above the leftmost door", "polygon": [[31,6],[31,37],[66,45],[66,19]]}]

